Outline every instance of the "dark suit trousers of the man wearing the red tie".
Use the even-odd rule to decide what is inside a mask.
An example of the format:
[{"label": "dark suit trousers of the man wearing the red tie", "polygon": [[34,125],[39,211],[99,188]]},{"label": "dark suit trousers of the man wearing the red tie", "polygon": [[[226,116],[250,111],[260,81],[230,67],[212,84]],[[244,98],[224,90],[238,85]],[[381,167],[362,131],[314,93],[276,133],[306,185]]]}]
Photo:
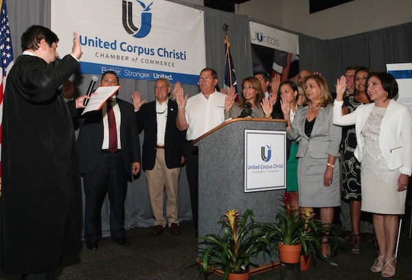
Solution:
[{"label": "dark suit trousers of the man wearing the red tie", "polygon": [[106,194],[110,200],[110,231],[113,240],[125,237],[124,201],[128,176],[122,161],[122,152],[102,151],[98,167],[91,174],[82,174],[84,207],[84,240],[102,239],[102,205]]}]

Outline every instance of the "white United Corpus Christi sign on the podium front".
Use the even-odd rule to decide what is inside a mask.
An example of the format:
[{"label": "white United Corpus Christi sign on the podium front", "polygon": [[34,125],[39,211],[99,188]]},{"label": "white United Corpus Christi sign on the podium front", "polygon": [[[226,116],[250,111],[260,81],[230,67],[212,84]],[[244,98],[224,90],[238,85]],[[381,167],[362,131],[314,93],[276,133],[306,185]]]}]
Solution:
[{"label": "white United Corpus Christi sign on the podium front", "polygon": [[244,192],[286,189],[286,132],[244,130]]}]

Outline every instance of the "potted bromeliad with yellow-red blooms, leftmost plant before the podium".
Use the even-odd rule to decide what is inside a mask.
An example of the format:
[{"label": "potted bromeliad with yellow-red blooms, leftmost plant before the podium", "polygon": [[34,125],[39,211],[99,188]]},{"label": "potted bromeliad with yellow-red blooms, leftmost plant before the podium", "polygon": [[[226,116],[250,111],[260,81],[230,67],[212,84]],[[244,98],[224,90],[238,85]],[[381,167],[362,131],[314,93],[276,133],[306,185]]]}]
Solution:
[{"label": "potted bromeliad with yellow-red blooms, leftmost plant before the podium", "polygon": [[253,211],[248,209],[243,215],[236,210],[228,210],[220,219],[220,235],[209,234],[199,237],[199,270],[221,269],[223,279],[245,274],[249,279],[249,259],[257,258],[259,253],[270,246],[266,224],[255,222]]}]

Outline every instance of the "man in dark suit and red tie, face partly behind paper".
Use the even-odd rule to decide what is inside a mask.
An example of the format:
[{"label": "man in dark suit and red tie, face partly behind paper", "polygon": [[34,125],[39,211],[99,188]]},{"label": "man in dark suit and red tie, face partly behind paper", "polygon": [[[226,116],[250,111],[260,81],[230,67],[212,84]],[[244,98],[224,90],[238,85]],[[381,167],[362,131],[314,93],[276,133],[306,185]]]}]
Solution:
[{"label": "man in dark suit and red tie, face partly behind paper", "polygon": [[[100,86],[117,86],[113,71],[102,75]],[[113,124],[114,121],[114,124]],[[100,110],[78,117],[78,152],[85,201],[84,240],[95,250],[102,238],[101,211],[108,193],[111,237],[127,245],[124,201],[127,182],[140,171],[140,142],[133,105],[113,97]],[[113,132],[113,134],[111,133]]]}]

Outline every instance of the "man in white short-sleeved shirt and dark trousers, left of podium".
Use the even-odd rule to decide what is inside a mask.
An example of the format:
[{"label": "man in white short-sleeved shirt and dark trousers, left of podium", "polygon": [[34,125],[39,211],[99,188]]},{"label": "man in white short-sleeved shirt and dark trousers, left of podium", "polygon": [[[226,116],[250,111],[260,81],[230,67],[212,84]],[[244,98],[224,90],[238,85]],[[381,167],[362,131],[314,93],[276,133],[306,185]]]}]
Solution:
[{"label": "man in white short-sleeved shirt and dark trousers, left of podium", "polygon": [[178,114],[176,119],[179,130],[186,132],[186,173],[190,187],[190,200],[196,237],[198,230],[198,148],[192,146],[192,141],[225,121],[226,95],[216,91],[218,74],[214,69],[205,68],[199,76],[201,93],[187,99],[180,83],[177,82],[173,91],[176,93]]}]

